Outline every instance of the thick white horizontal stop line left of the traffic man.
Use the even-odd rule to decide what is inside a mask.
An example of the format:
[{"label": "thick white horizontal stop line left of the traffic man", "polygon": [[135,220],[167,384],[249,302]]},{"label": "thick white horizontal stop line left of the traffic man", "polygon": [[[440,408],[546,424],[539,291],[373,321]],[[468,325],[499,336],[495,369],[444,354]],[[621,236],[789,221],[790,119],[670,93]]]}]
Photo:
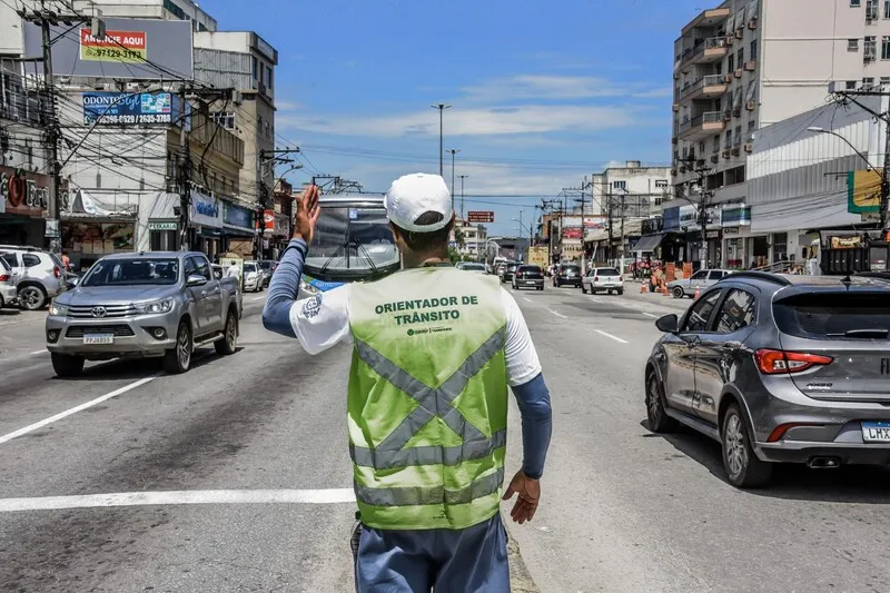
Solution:
[{"label": "thick white horizontal stop line left of the traffic man", "polygon": [[119,492],[0,500],[0,513],[168,504],[355,504],[352,488]]}]

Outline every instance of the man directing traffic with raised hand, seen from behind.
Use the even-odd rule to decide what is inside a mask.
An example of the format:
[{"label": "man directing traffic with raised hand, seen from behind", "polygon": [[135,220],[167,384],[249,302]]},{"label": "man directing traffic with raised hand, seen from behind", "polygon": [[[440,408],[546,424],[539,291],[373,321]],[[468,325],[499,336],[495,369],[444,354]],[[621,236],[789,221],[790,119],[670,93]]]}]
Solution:
[{"label": "man directing traffic with raised hand, seen from behind", "polygon": [[267,329],[309,354],[353,345],[349,453],[360,518],[359,592],[510,591],[504,480],[507,386],[518,402],[523,467],[504,500],[531,521],[551,437],[550,394],[522,313],[495,276],[451,266],[452,197],[408,175],[385,199],[403,267],[297,300],[319,215],[298,201],[294,238],[271,278]]}]

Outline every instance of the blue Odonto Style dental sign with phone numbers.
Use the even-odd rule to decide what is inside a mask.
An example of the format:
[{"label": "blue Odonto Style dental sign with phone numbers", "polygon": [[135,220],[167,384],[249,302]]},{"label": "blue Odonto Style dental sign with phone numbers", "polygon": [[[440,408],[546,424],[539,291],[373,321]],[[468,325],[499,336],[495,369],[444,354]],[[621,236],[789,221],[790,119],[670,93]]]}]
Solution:
[{"label": "blue Odonto Style dental sign with phone numbers", "polygon": [[89,126],[97,120],[99,126],[174,123],[179,118],[177,99],[170,92],[85,92],[83,123]]}]

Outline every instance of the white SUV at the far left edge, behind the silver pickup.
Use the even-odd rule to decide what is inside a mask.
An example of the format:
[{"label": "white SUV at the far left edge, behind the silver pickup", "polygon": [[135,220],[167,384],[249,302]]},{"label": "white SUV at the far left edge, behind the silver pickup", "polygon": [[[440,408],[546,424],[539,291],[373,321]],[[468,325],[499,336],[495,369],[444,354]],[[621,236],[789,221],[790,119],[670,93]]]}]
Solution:
[{"label": "white SUV at the far left edge, behind the silver pickup", "polygon": [[21,308],[42,309],[49,299],[65,290],[65,266],[49,251],[0,245],[0,258],[11,268],[16,278],[16,293]]}]

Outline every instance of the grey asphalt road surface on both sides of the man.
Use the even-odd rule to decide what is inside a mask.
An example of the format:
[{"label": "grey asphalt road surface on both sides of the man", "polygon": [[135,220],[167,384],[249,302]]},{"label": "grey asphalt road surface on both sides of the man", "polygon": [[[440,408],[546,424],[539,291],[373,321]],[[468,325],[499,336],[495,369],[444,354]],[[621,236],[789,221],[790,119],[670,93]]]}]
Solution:
[{"label": "grey asphalt road surface on both sides of the man", "polygon": [[[783,468],[743,493],[715,443],[649,433],[653,322],[690,302],[630,286],[516,295],[554,405],[542,507],[510,527],[541,591],[890,591],[887,471]],[[180,376],[56,379],[41,316],[0,314],[0,591],[352,590],[349,353],[266,333],[261,298],[236,355],[202,349]],[[515,406],[511,428],[508,472]]]}]

